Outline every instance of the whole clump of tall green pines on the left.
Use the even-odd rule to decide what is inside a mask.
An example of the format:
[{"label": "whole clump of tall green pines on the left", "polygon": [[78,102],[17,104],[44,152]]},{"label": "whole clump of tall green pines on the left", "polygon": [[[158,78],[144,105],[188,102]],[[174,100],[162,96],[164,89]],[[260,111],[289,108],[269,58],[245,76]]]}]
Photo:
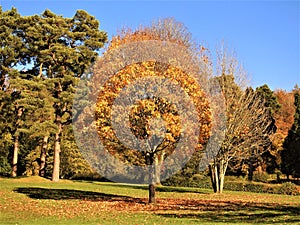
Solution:
[{"label": "whole clump of tall green pines on the left", "polygon": [[96,60],[107,35],[83,10],[63,18],[49,10],[22,17],[16,9],[0,8],[0,25],[0,160],[7,165],[8,150],[14,149],[15,176],[19,148],[35,149],[29,145],[36,140],[42,149],[43,175],[48,140],[54,139],[53,180],[57,181],[62,130],[71,123],[75,86]]}]

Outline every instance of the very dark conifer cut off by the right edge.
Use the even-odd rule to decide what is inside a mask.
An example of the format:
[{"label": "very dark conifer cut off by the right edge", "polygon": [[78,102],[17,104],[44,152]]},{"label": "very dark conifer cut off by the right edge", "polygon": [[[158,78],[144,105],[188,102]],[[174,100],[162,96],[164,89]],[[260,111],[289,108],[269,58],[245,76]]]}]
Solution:
[{"label": "very dark conifer cut off by the right edge", "polygon": [[296,112],[294,115],[294,124],[289,130],[288,136],[283,143],[281,152],[281,171],[290,176],[300,177],[300,90],[296,90],[294,105]]}]

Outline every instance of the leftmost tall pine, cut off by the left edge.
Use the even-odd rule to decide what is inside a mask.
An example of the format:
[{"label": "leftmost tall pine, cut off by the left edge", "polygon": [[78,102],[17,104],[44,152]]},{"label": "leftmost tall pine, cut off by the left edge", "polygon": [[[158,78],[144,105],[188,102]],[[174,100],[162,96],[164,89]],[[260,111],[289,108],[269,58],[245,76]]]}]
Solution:
[{"label": "leftmost tall pine, cut off by the left edge", "polygon": [[[28,52],[20,34],[21,16],[15,8],[2,11],[0,7],[0,157],[3,164],[7,163],[8,149],[13,148],[11,175],[17,175],[19,136],[23,126],[24,111],[28,106],[30,92],[22,92],[13,86],[13,80],[20,77],[17,65],[28,62]],[[20,79],[19,79],[20,80]],[[29,83],[22,88],[28,89]],[[11,141],[11,140],[12,141]],[[8,143],[8,144],[7,144]],[[1,170],[1,168],[0,168]]]}]

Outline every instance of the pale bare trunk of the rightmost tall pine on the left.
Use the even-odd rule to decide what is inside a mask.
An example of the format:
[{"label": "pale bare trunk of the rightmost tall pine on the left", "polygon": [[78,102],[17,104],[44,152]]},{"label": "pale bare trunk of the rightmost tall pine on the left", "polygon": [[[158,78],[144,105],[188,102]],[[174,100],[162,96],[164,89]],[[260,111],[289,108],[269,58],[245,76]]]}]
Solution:
[{"label": "pale bare trunk of the rightmost tall pine on the left", "polygon": [[54,140],[54,157],[53,157],[53,173],[52,173],[52,181],[59,181],[59,170],[60,170],[60,141],[61,141],[61,133],[62,133],[62,124],[61,117],[56,115],[56,124],[58,126],[58,131],[55,134]]}]

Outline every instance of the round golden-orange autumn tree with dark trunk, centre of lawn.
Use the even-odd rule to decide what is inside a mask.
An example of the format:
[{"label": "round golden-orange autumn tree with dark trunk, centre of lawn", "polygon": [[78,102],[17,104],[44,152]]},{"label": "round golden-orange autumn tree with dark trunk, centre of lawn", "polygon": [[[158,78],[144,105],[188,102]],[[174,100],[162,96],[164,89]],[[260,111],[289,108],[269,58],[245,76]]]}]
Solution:
[{"label": "round golden-orange autumn tree with dark trunk, centre of lawn", "polygon": [[[149,184],[149,203],[155,203],[157,174],[203,150],[210,134],[209,101],[197,80],[207,75],[192,45],[184,26],[166,19],[113,37],[94,67],[97,136],[127,166],[124,173],[132,170],[135,182]],[[84,154],[93,161],[99,152]]]}]

